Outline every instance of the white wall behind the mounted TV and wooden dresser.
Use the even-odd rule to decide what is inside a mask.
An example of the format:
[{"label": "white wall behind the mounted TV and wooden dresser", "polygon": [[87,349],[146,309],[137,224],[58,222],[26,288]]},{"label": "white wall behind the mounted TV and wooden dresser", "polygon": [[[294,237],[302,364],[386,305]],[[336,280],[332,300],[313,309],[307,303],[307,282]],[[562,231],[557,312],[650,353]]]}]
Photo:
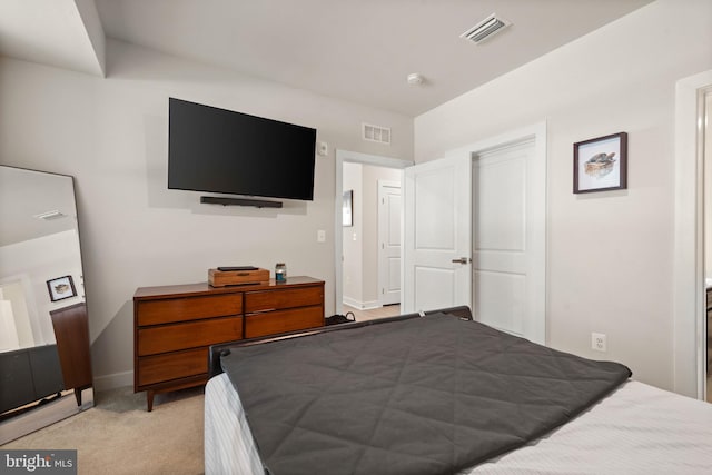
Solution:
[{"label": "white wall behind the mounted TV and wooden dresser", "polygon": [[[121,42],[109,41],[106,58],[107,78],[0,58],[0,162],[76,177],[98,384],[132,383],[137,287],[285,261],[291,276],[326,280],[333,313],[334,154],[317,157],[314,201],[200,205],[200,194],[166,186],[168,97],[314,127],[329,150],[399,158],[413,155],[412,119]],[[390,127],[392,146],[360,140],[362,122]]]}]

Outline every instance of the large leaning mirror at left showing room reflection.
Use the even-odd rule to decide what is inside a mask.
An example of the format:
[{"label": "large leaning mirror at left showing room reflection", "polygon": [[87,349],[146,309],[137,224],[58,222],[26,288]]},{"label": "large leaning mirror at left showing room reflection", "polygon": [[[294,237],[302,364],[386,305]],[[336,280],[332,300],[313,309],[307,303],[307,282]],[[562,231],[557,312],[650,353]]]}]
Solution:
[{"label": "large leaning mirror at left showing room reflection", "polygon": [[0,444],[93,405],[73,179],[0,166]]}]

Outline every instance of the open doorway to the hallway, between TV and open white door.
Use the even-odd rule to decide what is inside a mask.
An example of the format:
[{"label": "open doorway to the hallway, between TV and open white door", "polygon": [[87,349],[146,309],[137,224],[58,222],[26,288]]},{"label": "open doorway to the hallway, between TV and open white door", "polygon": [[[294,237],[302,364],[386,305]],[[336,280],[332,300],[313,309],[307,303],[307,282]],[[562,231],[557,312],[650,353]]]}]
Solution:
[{"label": "open doorway to the hallway, between TV and open white door", "polygon": [[[403,177],[403,169],[412,166],[412,161],[400,160],[389,157],[374,156],[347,150],[336,150],[336,230],[335,230],[335,263],[336,263],[336,285],[335,306],[336,313],[345,314],[353,308],[360,311],[372,311],[385,308],[383,305],[399,303],[399,285],[394,289],[394,284],[398,284],[402,273],[402,259],[399,257],[400,219],[402,205],[393,196],[394,187],[399,187]],[[386,219],[389,226],[387,239],[398,241],[397,255],[394,249],[389,249],[390,255],[380,253],[380,239],[378,236],[379,212],[378,212],[378,188],[379,181],[389,188],[389,197],[384,200],[389,208],[388,218],[383,212],[382,219]],[[389,185],[389,187],[388,187]],[[348,195],[350,207],[345,210],[345,196]],[[393,208],[396,207],[397,215],[393,216]],[[344,216],[350,214],[350,219],[344,220]],[[397,225],[396,225],[397,221]],[[394,228],[395,226],[395,228]],[[384,249],[386,246],[384,244]],[[380,259],[387,259],[390,270],[397,270],[397,275],[392,273],[383,274]],[[394,269],[393,267],[397,267]],[[383,279],[390,279],[389,283]],[[390,301],[382,299],[386,288],[389,288],[388,297]],[[383,291],[383,293],[382,293]],[[395,298],[394,296],[397,296]],[[393,301],[393,299],[397,301]],[[388,301],[388,303],[387,303]],[[394,310],[394,308],[396,308]],[[392,305],[386,314],[397,311],[397,305]],[[383,314],[383,311],[380,311]],[[385,314],[384,314],[385,315]]]}]

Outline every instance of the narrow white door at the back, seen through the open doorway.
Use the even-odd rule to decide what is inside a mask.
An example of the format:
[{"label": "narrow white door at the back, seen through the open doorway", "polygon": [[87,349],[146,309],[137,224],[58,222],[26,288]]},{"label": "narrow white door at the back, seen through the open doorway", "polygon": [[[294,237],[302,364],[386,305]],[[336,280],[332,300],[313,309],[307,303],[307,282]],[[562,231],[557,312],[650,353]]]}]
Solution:
[{"label": "narrow white door at the back, seen through the open doorway", "polygon": [[400,301],[400,184],[378,180],[378,300]]}]

